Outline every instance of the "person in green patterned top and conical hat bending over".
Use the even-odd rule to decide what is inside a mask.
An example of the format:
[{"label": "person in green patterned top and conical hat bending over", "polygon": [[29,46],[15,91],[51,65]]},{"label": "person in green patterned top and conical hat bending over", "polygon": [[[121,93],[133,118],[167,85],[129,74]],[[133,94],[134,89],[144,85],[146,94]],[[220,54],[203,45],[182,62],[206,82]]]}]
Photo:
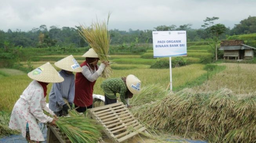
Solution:
[{"label": "person in green patterned top and conical hat bending over", "polygon": [[107,79],[102,82],[101,88],[105,93],[105,105],[116,103],[116,93],[120,93],[121,102],[131,107],[129,98],[140,93],[141,81],[134,75],[128,75],[126,78]]}]

